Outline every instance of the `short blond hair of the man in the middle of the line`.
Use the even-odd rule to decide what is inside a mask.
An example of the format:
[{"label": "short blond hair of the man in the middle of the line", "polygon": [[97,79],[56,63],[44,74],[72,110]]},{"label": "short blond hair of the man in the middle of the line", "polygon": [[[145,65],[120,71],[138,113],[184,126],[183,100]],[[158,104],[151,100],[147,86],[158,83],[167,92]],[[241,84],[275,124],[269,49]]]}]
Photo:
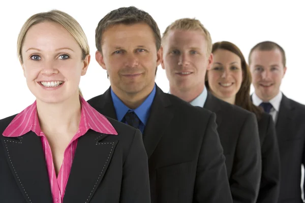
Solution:
[{"label": "short blond hair of the man in the middle of the line", "polygon": [[207,47],[207,55],[209,55],[212,52],[212,39],[210,36],[209,31],[203,26],[203,24],[195,19],[195,18],[181,18],[178,20],[175,20],[172,24],[170,24],[164,31],[162,41],[164,43],[164,39],[167,37],[168,32],[170,30],[201,30],[203,31],[203,36],[205,37]]}]

